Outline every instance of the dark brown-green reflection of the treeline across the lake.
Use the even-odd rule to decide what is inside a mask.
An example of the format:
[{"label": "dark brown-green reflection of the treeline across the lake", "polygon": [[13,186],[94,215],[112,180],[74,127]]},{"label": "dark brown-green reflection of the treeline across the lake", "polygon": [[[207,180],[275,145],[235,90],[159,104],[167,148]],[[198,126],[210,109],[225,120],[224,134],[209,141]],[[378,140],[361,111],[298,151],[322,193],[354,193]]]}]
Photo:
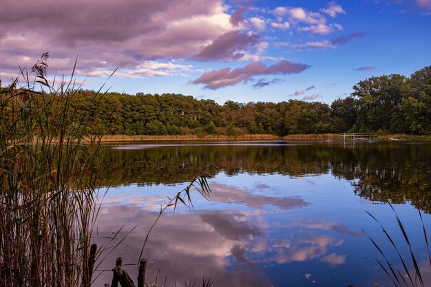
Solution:
[{"label": "dark brown-green reflection of the treeline across the lake", "polygon": [[[202,171],[305,176],[331,173],[351,180],[357,195],[406,203],[430,213],[431,145],[333,142],[286,145],[182,145],[107,149],[103,180],[114,185],[187,182]],[[278,145],[277,145],[278,144]],[[291,143],[289,143],[291,144]],[[145,146],[141,146],[145,147]]]}]

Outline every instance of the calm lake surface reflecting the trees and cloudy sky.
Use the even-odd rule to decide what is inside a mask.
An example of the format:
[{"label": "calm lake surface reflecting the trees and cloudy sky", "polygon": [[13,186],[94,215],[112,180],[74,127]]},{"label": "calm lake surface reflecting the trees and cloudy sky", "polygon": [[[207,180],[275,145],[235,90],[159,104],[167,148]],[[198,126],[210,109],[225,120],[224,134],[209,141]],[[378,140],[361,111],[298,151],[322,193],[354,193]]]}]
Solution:
[{"label": "calm lake surface reflecting the trees and cloudy sky", "polygon": [[390,201],[431,284],[418,212],[431,233],[430,143],[148,142],[107,148],[104,160],[103,185],[112,187],[93,237],[99,246],[118,246],[103,253],[97,286],[110,284],[118,256],[136,282],[133,264],[160,206],[203,172],[213,175],[211,200],[192,193],[194,210],[168,209],[151,231],[143,251],[147,283],[202,286],[211,277],[212,286],[232,287],[394,286],[364,233],[408,281],[368,211],[414,275]]}]

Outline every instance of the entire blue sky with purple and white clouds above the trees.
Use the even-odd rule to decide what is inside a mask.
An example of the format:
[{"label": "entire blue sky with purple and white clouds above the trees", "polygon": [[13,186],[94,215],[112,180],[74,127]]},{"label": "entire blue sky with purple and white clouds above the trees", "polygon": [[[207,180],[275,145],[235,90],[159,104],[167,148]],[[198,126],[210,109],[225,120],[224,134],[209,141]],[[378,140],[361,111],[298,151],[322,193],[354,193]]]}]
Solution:
[{"label": "entire blue sky with purple and white clouds above the trees", "polygon": [[0,26],[1,85],[49,52],[83,89],[330,104],[431,65],[431,0],[3,0]]}]

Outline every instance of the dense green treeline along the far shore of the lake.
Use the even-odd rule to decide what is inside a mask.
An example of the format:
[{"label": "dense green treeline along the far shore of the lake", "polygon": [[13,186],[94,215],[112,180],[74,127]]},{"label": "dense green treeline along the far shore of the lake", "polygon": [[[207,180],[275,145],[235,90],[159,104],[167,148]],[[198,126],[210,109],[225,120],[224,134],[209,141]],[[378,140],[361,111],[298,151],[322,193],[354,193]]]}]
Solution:
[{"label": "dense green treeline along the far shore of the lake", "polygon": [[[431,134],[431,66],[410,77],[399,74],[371,77],[353,89],[353,94],[331,105],[301,100],[281,103],[229,100],[219,105],[214,100],[197,100],[180,94],[132,96],[89,90],[75,91],[70,105],[74,111],[73,125],[83,127],[87,134],[285,136],[345,131]],[[41,106],[43,103],[39,109]]]}]

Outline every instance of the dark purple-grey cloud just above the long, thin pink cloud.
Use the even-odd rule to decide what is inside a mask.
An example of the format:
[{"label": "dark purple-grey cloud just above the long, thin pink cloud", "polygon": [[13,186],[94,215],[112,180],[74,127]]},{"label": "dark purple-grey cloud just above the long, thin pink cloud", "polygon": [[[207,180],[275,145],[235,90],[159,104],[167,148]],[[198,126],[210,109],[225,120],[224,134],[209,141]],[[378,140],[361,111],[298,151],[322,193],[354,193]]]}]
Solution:
[{"label": "dark purple-grey cloud just above the long, thin pink cloud", "polygon": [[204,47],[195,58],[205,61],[240,59],[245,55],[246,50],[257,45],[259,39],[260,36],[255,33],[227,32]]}]

